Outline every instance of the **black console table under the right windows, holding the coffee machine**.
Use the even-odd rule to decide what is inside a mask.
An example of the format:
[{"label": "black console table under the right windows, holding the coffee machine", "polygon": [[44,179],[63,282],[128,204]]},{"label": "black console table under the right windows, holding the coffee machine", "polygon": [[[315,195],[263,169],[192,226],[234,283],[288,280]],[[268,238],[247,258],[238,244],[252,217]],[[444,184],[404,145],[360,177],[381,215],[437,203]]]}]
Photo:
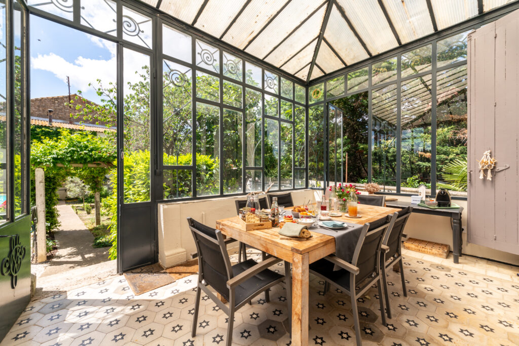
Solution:
[{"label": "black console table under the right windows, holding the coffee machine", "polygon": [[453,229],[454,263],[459,263],[459,256],[461,256],[461,245],[463,243],[463,240],[461,239],[461,232],[463,230],[461,227],[461,212],[463,211],[463,207],[460,206],[459,209],[431,209],[426,206],[419,206],[417,204],[411,204],[409,202],[402,201],[388,201],[386,202],[386,206],[391,208],[405,208],[412,206],[413,213],[450,217],[450,225]]}]

